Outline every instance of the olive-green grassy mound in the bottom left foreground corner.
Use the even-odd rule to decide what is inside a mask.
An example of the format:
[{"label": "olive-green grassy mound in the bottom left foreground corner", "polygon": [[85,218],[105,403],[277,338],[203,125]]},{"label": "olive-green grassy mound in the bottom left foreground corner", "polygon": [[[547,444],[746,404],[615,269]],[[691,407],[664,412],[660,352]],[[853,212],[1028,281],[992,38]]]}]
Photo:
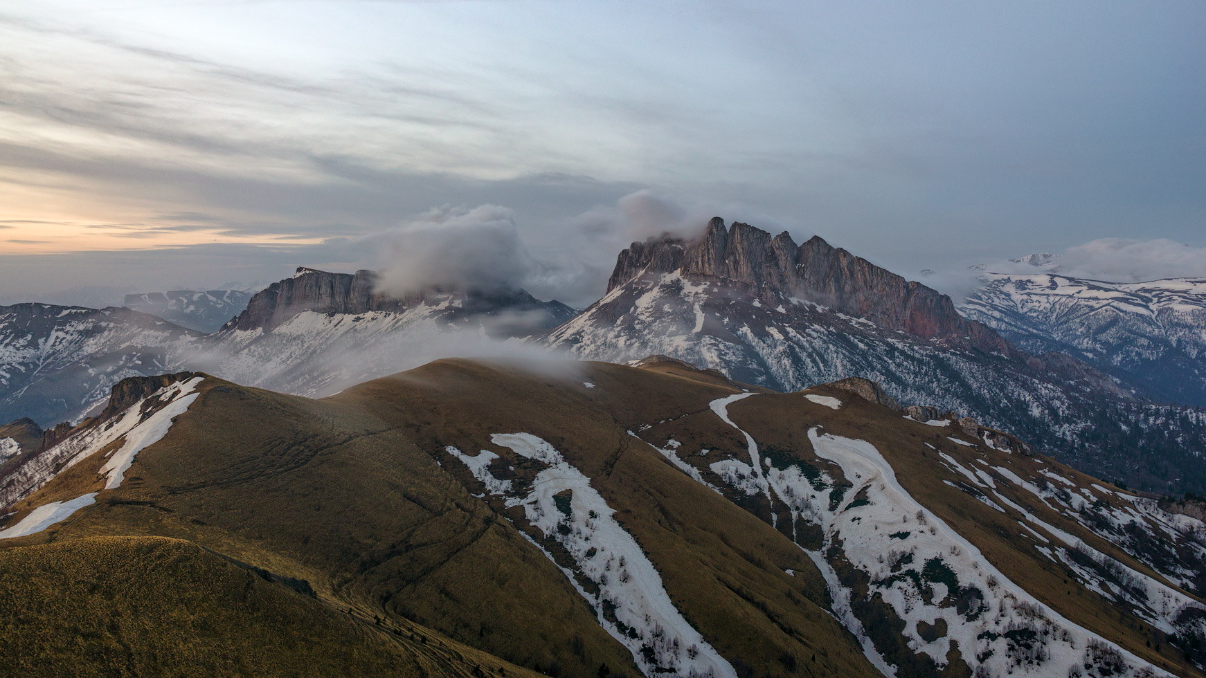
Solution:
[{"label": "olive-green grassy mound in the bottom left foreground corner", "polygon": [[178,540],[0,550],[0,601],[11,676],[534,676],[429,631],[396,635]]}]

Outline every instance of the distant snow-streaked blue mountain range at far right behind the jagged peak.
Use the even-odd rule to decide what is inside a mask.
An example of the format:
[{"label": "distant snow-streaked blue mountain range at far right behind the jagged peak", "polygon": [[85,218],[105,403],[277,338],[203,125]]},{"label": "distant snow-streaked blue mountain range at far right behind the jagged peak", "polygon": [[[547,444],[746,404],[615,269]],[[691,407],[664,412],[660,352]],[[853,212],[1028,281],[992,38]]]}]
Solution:
[{"label": "distant snow-streaked blue mountain range at far right behind the jagged peak", "polygon": [[1206,279],[1108,283],[985,272],[961,309],[1031,352],[1059,350],[1157,401],[1206,406]]}]

